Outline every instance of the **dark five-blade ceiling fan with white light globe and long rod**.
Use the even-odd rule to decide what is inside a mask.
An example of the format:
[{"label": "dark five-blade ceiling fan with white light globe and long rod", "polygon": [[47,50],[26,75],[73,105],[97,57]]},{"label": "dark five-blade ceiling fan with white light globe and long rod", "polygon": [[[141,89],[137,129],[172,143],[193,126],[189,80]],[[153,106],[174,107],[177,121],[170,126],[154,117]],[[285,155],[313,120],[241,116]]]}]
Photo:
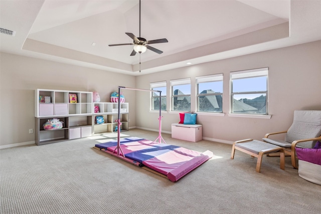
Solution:
[{"label": "dark five-blade ceiling fan with white light globe and long rod", "polygon": [[140,0],[139,0],[139,37],[136,37],[132,33],[125,33],[128,37],[130,37],[133,40],[133,43],[127,43],[127,44],[115,44],[115,45],[108,45],[108,46],[121,46],[121,45],[133,45],[134,50],[131,52],[130,56],[135,56],[136,53],[144,53],[147,49],[150,51],[153,51],[157,54],[162,54],[163,51],[155,49],[150,44],[156,44],[156,43],[167,43],[169,42],[167,39],[158,39],[158,40],[149,40],[147,41],[144,38],[140,37]]}]

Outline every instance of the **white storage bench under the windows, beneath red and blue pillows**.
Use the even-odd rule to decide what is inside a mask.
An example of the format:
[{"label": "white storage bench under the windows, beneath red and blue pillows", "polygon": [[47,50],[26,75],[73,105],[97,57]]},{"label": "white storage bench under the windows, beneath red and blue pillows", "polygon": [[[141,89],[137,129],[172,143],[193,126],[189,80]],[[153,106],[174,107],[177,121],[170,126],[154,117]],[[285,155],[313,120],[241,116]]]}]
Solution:
[{"label": "white storage bench under the windows, beneath red and blue pillows", "polygon": [[202,125],[172,124],[172,138],[197,142],[202,140]]}]

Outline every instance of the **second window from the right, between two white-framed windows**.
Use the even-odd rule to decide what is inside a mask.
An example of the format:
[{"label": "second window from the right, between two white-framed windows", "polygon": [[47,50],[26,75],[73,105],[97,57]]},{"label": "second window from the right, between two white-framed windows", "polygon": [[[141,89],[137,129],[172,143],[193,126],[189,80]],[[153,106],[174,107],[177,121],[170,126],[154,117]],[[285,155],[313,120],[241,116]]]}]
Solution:
[{"label": "second window from the right, between two white-framed windows", "polygon": [[197,111],[223,112],[223,74],[196,77]]}]

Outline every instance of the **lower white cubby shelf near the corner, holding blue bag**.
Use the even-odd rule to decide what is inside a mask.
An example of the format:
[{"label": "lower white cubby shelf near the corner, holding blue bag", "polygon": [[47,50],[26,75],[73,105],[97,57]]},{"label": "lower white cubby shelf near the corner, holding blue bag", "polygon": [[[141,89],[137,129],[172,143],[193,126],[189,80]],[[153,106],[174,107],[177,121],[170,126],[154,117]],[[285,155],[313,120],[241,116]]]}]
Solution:
[{"label": "lower white cubby shelf near the corner, holding blue bag", "polygon": [[[93,134],[112,133],[116,132],[118,119],[118,103],[93,103],[93,112],[95,106],[99,107],[98,113],[93,113]],[[128,131],[128,103],[120,103],[120,131]],[[96,116],[103,116],[104,123],[96,124]]]}]

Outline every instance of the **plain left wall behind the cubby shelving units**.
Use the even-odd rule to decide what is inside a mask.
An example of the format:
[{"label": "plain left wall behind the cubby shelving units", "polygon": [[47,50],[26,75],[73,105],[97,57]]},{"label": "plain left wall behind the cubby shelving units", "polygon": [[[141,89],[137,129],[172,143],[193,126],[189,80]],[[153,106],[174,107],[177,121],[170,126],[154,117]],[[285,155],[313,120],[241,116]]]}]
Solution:
[{"label": "plain left wall behind the cubby shelving units", "polygon": [[[118,86],[135,87],[135,77],[35,58],[0,53],[0,145],[35,141],[35,90],[97,91],[109,102]],[[129,103],[129,127],[135,126],[135,92],[123,91]]]}]

